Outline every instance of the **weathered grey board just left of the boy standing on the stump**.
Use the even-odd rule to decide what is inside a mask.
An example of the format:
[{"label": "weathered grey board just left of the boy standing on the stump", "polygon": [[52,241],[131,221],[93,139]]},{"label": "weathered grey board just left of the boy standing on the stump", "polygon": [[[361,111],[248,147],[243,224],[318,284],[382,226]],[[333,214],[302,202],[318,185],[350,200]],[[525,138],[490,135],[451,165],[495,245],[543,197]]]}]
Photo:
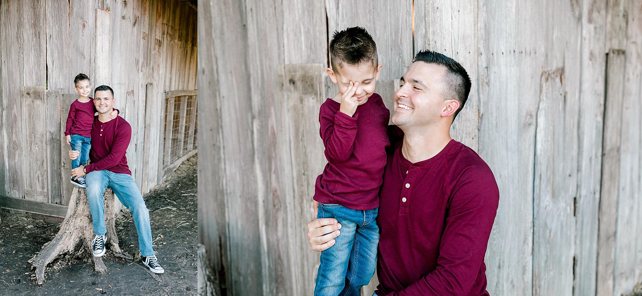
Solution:
[{"label": "weathered grey board just left of the boy standing on the stump", "polygon": [[[62,92],[60,90],[48,90],[45,92],[45,118],[46,118],[46,159],[47,159],[47,180],[48,200],[51,204],[62,204],[62,183],[67,180],[60,178],[61,175],[61,147],[60,138],[65,138],[60,134],[60,100]],[[65,114],[66,115],[66,114]],[[64,116],[66,119],[67,116]],[[63,140],[65,141],[65,140]]]}]

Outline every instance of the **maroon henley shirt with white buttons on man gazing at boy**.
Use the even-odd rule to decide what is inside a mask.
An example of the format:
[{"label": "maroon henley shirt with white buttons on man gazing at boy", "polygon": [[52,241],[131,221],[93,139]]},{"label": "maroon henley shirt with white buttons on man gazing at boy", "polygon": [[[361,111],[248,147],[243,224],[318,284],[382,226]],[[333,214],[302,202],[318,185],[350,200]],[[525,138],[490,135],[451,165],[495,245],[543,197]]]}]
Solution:
[{"label": "maroon henley shirt with white buttons on man gazing at boy", "polygon": [[489,295],[484,255],[498,202],[492,171],[471,148],[451,140],[411,163],[399,143],[381,187],[377,295]]}]

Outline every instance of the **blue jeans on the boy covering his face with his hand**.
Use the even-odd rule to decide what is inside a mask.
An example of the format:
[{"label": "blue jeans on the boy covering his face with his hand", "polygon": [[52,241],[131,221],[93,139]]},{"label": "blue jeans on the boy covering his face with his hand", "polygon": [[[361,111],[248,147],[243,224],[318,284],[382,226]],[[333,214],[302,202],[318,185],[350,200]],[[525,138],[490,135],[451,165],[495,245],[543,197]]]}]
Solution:
[{"label": "blue jeans on the boy covering his face with his hand", "polygon": [[341,234],[321,252],[315,296],[359,296],[361,286],[370,283],[377,264],[378,211],[319,204],[317,218],[335,218]]}]

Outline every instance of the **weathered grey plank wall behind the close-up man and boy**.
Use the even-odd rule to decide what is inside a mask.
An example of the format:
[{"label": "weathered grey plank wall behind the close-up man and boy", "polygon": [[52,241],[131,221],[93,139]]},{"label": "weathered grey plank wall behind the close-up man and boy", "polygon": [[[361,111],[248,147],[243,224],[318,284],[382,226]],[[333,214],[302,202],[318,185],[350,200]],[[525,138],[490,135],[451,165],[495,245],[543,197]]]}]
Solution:
[{"label": "weathered grey plank wall behind the close-up man and boy", "polygon": [[199,241],[227,295],[313,292],[306,223],[325,164],[318,108],[335,92],[327,44],[356,25],[377,42],[388,107],[421,49],[471,75],[451,134],[501,192],[491,295],[620,296],[642,280],[642,1],[199,6],[199,175],[212,180],[199,184]]}]

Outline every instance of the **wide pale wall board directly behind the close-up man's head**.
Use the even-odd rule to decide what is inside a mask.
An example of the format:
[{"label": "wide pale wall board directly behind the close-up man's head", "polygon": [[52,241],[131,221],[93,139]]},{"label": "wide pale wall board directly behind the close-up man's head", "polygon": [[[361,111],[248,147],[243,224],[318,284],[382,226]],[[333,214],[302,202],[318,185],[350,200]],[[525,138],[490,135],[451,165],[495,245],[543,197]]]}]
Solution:
[{"label": "wide pale wall board directly behind the close-up man's head", "polygon": [[477,1],[416,1],[414,17],[415,54],[423,49],[437,51],[459,62],[471,78],[471,92],[464,109],[451,127],[451,137],[478,150],[479,100],[476,89],[478,34]]}]

